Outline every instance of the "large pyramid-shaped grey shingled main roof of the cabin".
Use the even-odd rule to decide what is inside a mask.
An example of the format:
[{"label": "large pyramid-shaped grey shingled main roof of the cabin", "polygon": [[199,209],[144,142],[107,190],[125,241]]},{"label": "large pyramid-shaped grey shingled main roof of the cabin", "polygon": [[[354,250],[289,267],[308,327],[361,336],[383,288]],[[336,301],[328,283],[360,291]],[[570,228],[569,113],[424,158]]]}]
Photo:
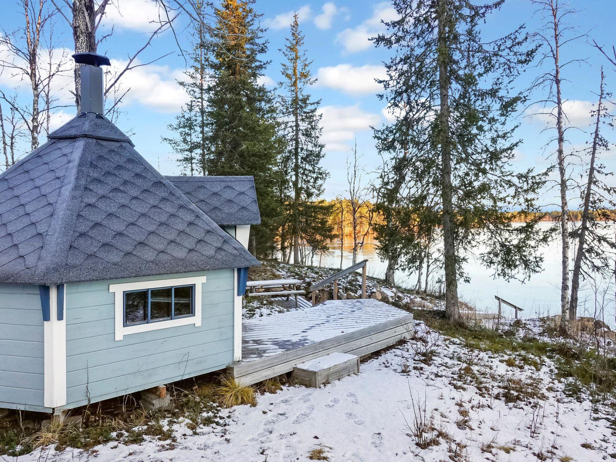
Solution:
[{"label": "large pyramid-shaped grey shingled main roof of the cabin", "polygon": [[102,116],[77,116],[49,139],[0,174],[0,282],[259,264]]}]

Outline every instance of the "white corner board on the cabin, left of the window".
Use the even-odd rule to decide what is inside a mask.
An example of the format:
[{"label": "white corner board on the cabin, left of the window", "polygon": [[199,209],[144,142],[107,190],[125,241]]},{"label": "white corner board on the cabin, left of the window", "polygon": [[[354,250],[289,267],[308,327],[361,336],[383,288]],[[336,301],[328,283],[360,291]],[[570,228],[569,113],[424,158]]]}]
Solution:
[{"label": "white corner board on the cabin, left of the window", "polygon": [[67,403],[67,286],[64,286],[64,317],[58,320],[58,286],[49,287],[50,320],[43,321],[45,407]]}]

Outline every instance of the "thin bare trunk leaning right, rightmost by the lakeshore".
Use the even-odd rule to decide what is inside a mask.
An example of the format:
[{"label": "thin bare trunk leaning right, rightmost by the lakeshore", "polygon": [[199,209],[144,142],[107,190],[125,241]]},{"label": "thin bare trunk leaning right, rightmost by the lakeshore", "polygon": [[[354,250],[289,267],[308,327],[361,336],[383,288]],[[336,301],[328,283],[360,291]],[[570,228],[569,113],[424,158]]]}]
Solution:
[{"label": "thin bare trunk leaning right, rightmost by the lakeshore", "polygon": [[597,105],[597,117],[594,123],[593,147],[590,153],[590,166],[588,168],[588,182],[586,183],[586,193],[584,195],[584,208],[582,211],[582,224],[580,225],[580,237],[578,238],[578,248],[573,264],[573,275],[571,278],[571,300],[569,303],[569,318],[577,318],[578,291],[580,289],[580,273],[582,272],[582,257],[584,256],[584,246],[586,245],[586,227],[588,226],[588,211],[590,209],[590,197],[593,190],[594,180],[594,160],[599,143],[599,125],[601,124],[601,105],[603,103],[603,79],[604,74],[601,70],[601,86],[599,87],[599,104]]}]

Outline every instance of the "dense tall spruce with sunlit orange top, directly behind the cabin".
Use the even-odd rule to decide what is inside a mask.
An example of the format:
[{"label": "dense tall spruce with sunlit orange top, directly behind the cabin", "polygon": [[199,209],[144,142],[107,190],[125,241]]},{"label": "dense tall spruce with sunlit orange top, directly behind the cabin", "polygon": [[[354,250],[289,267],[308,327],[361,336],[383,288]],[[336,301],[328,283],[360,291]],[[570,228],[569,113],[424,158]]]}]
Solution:
[{"label": "dense tall spruce with sunlit orange top, directly behind the cabin", "polygon": [[214,9],[205,67],[204,170],[209,175],[251,175],[257,190],[261,225],[251,232],[250,249],[269,255],[280,223],[274,168],[282,152],[273,95],[259,84],[268,62],[267,41],[258,25],[254,0],[223,0]]}]

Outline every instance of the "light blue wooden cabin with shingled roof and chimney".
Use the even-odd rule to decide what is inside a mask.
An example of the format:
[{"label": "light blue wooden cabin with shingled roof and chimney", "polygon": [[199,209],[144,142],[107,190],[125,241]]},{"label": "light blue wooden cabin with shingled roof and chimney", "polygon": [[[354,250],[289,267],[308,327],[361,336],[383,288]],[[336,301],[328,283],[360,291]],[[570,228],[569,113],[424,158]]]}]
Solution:
[{"label": "light blue wooden cabin with shingled roof and chimney", "polygon": [[252,177],[164,177],[82,110],[0,174],[0,408],[55,412],[241,359]]}]

